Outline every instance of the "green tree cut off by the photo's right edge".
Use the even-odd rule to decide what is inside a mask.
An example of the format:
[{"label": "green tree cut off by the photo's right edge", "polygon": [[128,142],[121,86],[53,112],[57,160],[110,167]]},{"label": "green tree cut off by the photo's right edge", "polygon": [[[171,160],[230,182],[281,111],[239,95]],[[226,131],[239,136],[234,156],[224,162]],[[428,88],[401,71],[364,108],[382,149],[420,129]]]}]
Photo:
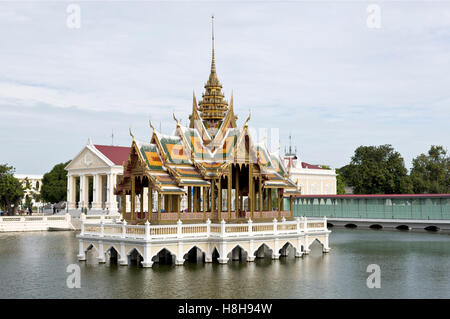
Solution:
[{"label": "green tree cut off by the photo's right edge", "polygon": [[450,157],[442,146],[432,145],[428,155],[420,154],[412,164],[414,193],[450,193]]}]

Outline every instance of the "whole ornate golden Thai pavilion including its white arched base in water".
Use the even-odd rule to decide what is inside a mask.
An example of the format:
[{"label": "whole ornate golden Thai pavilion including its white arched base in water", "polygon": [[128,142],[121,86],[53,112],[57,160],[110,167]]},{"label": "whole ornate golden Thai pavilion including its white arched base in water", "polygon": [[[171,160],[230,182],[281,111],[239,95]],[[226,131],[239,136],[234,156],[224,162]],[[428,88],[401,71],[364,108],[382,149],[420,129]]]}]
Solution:
[{"label": "whole ornate golden Thai pavilion including its white arched base in water", "polygon": [[299,192],[279,153],[253,140],[250,116],[238,127],[233,96],[225,100],[217,78],[214,36],[211,72],[202,99],[193,97],[189,127],[174,120],[173,135],[150,123],[148,142],[130,130],[128,159],[114,189],[122,216],[95,223],[82,214],[78,260],[93,251],[99,263],[147,268],[192,259],[226,264],[266,254],[302,257],[315,241],[324,253],[330,250],[326,218],[292,217]]}]

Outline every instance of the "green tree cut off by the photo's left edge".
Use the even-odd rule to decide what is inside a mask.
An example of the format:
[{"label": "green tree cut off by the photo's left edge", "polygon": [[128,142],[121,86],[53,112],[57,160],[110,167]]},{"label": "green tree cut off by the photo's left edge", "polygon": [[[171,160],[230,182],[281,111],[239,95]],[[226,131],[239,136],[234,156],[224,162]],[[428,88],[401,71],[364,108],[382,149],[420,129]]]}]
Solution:
[{"label": "green tree cut off by the photo's left edge", "polygon": [[24,195],[22,183],[14,177],[14,171],[8,164],[0,165],[0,204],[10,216],[17,213]]}]

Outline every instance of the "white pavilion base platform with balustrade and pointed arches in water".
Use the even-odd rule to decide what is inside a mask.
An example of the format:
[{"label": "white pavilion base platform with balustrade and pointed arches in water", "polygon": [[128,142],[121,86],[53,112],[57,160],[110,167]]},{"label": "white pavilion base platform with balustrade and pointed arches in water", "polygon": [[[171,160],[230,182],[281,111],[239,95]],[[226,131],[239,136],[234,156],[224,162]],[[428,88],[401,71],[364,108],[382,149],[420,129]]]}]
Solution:
[{"label": "white pavilion base platform with balustrade and pointed arches in water", "polygon": [[94,251],[99,263],[108,259],[120,265],[137,264],[144,268],[155,262],[169,261],[183,265],[187,259],[206,263],[225,264],[229,260],[246,260],[269,253],[272,259],[308,254],[313,242],[329,252],[326,218],[297,217],[295,220],[273,219],[271,222],[246,223],[211,222],[153,225],[129,225],[117,223],[85,223],[79,239],[78,260],[86,260],[87,253]]}]

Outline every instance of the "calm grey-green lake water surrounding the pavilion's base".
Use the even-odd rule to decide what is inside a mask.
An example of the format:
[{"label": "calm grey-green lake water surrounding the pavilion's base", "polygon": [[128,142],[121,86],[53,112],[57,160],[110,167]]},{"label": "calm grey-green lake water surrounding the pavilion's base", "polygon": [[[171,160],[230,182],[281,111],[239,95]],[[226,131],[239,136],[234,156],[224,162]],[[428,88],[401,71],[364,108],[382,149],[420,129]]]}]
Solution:
[{"label": "calm grey-green lake water surrounding the pavilion's base", "polygon": [[[324,255],[314,244],[300,259],[148,269],[78,263],[74,232],[0,234],[0,298],[450,298],[449,235],[332,231]],[[72,263],[80,289],[66,285]],[[380,289],[366,286],[369,264]]]}]

